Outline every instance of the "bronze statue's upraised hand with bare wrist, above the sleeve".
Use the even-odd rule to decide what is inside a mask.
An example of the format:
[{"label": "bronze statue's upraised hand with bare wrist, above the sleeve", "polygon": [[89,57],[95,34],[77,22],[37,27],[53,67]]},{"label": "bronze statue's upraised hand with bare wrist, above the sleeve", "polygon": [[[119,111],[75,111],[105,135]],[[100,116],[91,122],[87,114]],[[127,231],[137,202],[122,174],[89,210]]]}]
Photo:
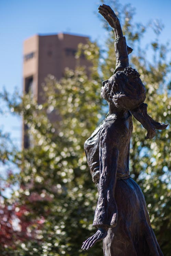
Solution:
[{"label": "bronze statue's upraised hand with bare wrist, above the sleeve", "polygon": [[123,36],[120,21],[109,5],[100,5],[98,12],[107,20],[109,25],[113,27],[116,36]]}]

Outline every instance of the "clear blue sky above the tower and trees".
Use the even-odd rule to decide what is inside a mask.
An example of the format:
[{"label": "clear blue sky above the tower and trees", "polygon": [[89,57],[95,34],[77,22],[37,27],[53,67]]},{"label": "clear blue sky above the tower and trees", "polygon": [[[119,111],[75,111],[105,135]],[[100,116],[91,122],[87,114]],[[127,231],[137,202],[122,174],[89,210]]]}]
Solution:
[{"label": "clear blue sky above the tower and trees", "polygon": [[[171,41],[170,0],[122,0],[136,8],[135,21],[147,23],[159,19],[165,25],[163,42]],[[108,1],[105,1],[108,4]],[[72,33],[90,36],[103,43],[106,32],[98,19],[96,0],[0,0],[0,88],[22,92],[23,41],[34,34]],[[96,14],[97,15],[96,15]],[[99,14],[100,15],[100,14]],[[146,41],[153,39],[150,31]],[[11,115],[0,116],[0,129],[12,133],[21,143],[21,120]]]}]

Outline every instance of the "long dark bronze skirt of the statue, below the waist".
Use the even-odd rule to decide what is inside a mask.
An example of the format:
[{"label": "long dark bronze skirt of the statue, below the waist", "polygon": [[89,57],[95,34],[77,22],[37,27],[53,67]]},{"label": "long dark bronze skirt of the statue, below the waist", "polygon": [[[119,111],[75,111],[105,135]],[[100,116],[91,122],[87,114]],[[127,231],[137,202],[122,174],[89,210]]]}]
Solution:
[{"label": "long dark bronze skirt of the statue, below the waist", "polygon": [[118,179],[115,200],[118,223],[103,240],[104,256],[163,256],[139,185],[132,178]]}]

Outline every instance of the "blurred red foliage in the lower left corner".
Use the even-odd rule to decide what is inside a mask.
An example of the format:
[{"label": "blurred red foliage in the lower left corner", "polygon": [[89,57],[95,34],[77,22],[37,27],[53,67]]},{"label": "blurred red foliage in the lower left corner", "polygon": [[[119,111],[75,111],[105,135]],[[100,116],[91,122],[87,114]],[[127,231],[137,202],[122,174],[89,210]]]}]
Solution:
[{"label": "blurred red foliage in the lower left corner", "polygon": [[[29,213],[26,205],[19,206],[14,203],[9,206],[4,202],[3,197],[0,197],[0,245],[2,247],[15,248],[16,241],[23,242],[30,240],[30,237],[35,238],[36,230],[41,228],[44,218],[41,216],[31,220],[27,218]],[[33,225],[34,228],[32,228]],[[28,232],[28,227],[31,232]]]}]

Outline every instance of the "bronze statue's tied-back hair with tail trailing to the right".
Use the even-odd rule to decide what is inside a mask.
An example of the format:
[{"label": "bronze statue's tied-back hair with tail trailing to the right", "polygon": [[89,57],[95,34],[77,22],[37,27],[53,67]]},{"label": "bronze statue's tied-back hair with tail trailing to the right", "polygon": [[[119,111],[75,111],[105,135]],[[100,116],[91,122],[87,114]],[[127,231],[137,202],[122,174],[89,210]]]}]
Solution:
[{"label": "bronze statue's tied-back hair with tail trailing to the right", "polygon": [[124,71],[117,71],[109,78],[108,89],[109,100],[119,109],[131,110],[134,118],[147,130],[146,139],[153,138],[156,129],[164,130],[168,126],[154,121],[147,114],[145,87],[135,69],[127,67]]}]

